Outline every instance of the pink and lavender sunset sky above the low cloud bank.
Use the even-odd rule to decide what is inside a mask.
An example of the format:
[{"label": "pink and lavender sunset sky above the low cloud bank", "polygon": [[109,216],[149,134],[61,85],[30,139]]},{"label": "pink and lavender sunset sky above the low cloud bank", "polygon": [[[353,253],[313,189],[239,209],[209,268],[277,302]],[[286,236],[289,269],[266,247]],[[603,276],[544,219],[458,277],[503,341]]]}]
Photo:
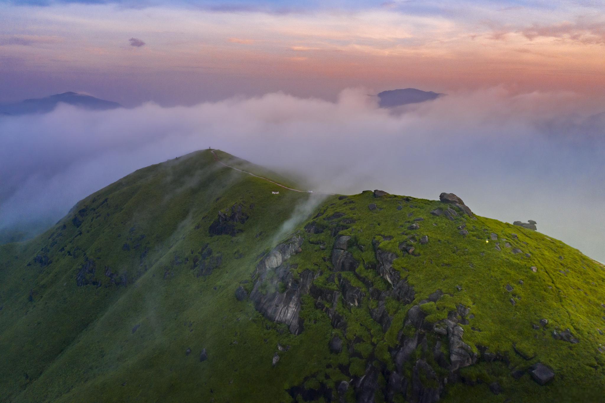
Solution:
[{"label": "pink and lavender sunset sky above the low cloud bank", "polygon": [[605,90],[605,2],[0,0],[0,102]]}]

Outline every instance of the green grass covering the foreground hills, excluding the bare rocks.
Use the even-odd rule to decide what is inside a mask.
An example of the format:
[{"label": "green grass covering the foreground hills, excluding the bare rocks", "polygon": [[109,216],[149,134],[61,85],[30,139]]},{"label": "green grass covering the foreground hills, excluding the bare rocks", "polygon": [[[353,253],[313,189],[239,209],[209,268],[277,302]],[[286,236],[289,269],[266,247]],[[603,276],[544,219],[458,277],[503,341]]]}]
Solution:
[{"label": "green grass covering the foreground hills, excluding the bare rocks", "polygon": [[[296,187],[261,167],[217,153],[240,169]],[[273,190],[280,194],[272,195]],[[44,234],[0,246],[0,401],[292,401],[290,387],[321,382],[335,388],[338,381],[348,381],[342,365],[353,376],[363,375],[369,359],[392,369],[388,348],[396,345],[400,331],[410,330],[404,327],[408,309],[437,289],[445,295],[422,306],[427,320],[439,321],[459,304],[469,307],[474,317],[462,326],[464,341],[475,351],[487,346],[509,359],[509,365],[479,361],[462,369],[476,384],[448,385],[443,401],[600,401],[605,390],[605,354],[598,351],[605,345],[598,331],[605,333],[603,266],[539,232],[483,217],[450,221],[430,214],[442,206],[439,201],[394,195],[377,199],[371,192],[326,198],[291,231],[280,231],[309,197],[316,196],[224,168],[209,151],[200,151],[140,169],[80,201]],[[370,203],[378,209],[370,211]],[[238,224],[241,232],[211,237],[208,228],[218,211],[235,204],[249,215]],[[307,234],[304,226],[320,211],[324,214],[315,221],[325,231]],[[326,220],[335,212],[345,215]],[[420,229],[408,230],[416,217],[424,218]],[[468,235],[459,234],[461,224]],[[322,272],[315,284],[336,289],[338,284],[329,281],[331,229],[339,225],[347,227],[341,234],[352,236],[348,251],[360,262],[357,276],[342,276],[365,294],[358,307],[342,300],[338,304],[347,332],[333,329],[309,295],[303,297],[305,330],[298,336],[264,318],[249,300],[237,301],[235,289],[240,284],[251,289],[260,255],[295,231],[304,243],[289,263],[298,264],[298,273]],[[486,243],[491,232],[500,239]],[[416,241],[415,255],[401,254],[400,243],[423,235],[428,244]],[[357,278],[379,289],[390,287],[372,268],[374,239],[381,249],[397,254],[394,267],[416,291],[413,304],[387,300],[393,321],[386,333],[371,318],[376,303]],[[502,251],[494,248],[495,242]],[[523,253],[513,254],[515,247]],[[212,274],[197,277],[194,258],[208,249],[222,263]],[[51,263],[37,263],[38,255]],[[99,287],[76,285],[87,260],[95,266],[88,281],[100,282]],[[106,268],[128,284],[111,284]],[[532,329],[541,318],[548,319],[546,328]],[[552,338],[552,330],[567,328],[578,344]],[[339,354],[328,349],[333,335],[346,345]],[[278,343],[290,349],[278,351]],[[527,361],[513,346],[534,358]],[[200,362],[204,348],[208,360]],[[185,354],[187,349],[191,354]],[[280,361],[273,367],[276,352]],[[555,382],[539,386],[528,375],[512,378],[512,370],[538,361],[555,370]],[[503,395],[489,391],[487,385],[494,381]],[[347,396],[355,398],[351,392]]]}]

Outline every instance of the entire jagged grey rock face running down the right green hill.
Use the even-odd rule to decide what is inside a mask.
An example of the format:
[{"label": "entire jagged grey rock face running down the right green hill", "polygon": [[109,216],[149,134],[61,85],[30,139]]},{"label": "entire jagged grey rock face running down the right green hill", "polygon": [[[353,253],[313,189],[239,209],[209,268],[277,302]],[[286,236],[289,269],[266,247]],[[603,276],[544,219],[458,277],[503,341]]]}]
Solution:
[{"label": "entire jagged grey rock face running down the right green hill", "polygon": [[[333,268],[328,282],[337,285],[336,289],[313,284],[315,274],[311,270],[304,270],[299,280],[294,279],[291,269],[296,266],[290,266],[286,260],[300,250],[301,237],[295,236],[275,247],[257,265],[255,274],[257,278],[250,293],[250,299],[255,303],[257,310],[273,321],[286,323],[290,327],[290,332],[298,334],[303,329],[302,320],[299,318],[301,295],[309,293],[315,298],[316,309],[325,312],[330,318],[332,327],[346,335],[347,323],[342,313],[339,313],[339,309],[343,307],[353,309],[361,304],[363,298],[369,297],[378,302],[376,307],[370,309],[371,318],[381,325],[384,332],[387,332],[393,318],[388,314],[386,301],[388,298],[394,298],[402,304],[411,304],[415,297],[414,289],[407,283],[407,278],[401,278],[402,272],[393,268],[393,261],[397,255],[379,249],[378,240],[373,241],[378,263],[367,263],[365,267],[375,269],[391,287],[387,290],[374,287],[372,281],[362,277],[355,270],[358,262],[347,252],[351,240],[348,235],[340,235],[336,237],[333,245]],[[404,245],[405,251],[408,251],[407,248],[408,246]],[[352,284],[350,275],[342,273],[345,271],[351,271],[365,287],[353,286],[355,283]],[[269,272],[271,275],[267,275]],[[321,272],[318,275],[321,275]],[[281,284],[282,290],[285,287],[284,292],[275,290],[278,284]],[[263,289],[269,291],[263,293]],[[469,323],[467,316],[473,318],[473,315],[469,315],[468,307],[459,305],[457,310],[449,312],[446,319],[437,323],[427,320],[428,313],[423,310],[423,304],[437,302],[442,295],[442,290],[436,290],[428,296],[427,300],[420,301],[408,310],[404,320],[405,331],[399,333],[396,346],[390,349],[394,370],[388,370],[386,365],[377,364],[376,358],[373,358],[368,360],[362,376],[352,376],[350,385],[348,382],[344,384],[341,382],[338,385],[336,391],[338,395],[325,385],[320,385],[321,390],[307,389],[301,385],[292,388],[289,391],[290,395],[301,395],[303,400],[324,396],[327,401],[344,401],[347,388],[352,387],[357,402],[373,402],[376,394],[385,396],[387,401],[393,401],[396,395],[401,395],[405,401],[413,403],[439,401],[446,384],[460,381],[459,369],[477,362],[477,354],[463,341],[464,329],[460,326]],[[429,333],[433,335],[428,336]],[[358,341],[350,344],[349,352],[355,352],[356,342]],[[338,335],[330,339],[328,347],[330,352],[335,354],[347,348]],[[420,356],[419,351],[422,352]],[[427,359],[427,354],[432,356],[430,360]],[[483,352],[482,356],[484,356]],[[485,353],[486,359],[489,356],[489,353]],[[497,355],[492,354],[492,356],[493,359],[499,359]],[[277,358],[274,358],[273,364],[277,364],[279,358],[274,357]],[[436,370],[436,367],[431,365],[439,365],[445,371]],[[383,377],[386,385],[381,383]],[[492,391],[501,392],[495,385]]]}]

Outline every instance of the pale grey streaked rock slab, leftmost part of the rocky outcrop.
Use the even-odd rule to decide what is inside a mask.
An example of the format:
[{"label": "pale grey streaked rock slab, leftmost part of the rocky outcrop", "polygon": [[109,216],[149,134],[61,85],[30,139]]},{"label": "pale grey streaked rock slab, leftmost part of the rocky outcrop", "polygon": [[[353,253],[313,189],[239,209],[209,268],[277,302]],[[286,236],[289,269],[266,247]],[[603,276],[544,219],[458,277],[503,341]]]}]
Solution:
[{"label": "pale grey streaked rock slab, leftmost part of the rocky outcrop", "polygon": [[[258,264],[255,277],[256,282],[250,300],[258,312],[262,313],[272,321],[285,323],[290,332],[298,335],[302,332],[302,319],[299,318],[301,309],[301,295],[309,292],[313,281],[313,272],[304,270],[300,279],[295,280],[290,271],[290,265],[285,264],[293,254],[300,251],[302,238],[292,237],[286,243],[280,244],[267,254]],[[269,276],[269,272],[275,271],[275,275]],[[286,290],[279,292],[282,283]]]}]

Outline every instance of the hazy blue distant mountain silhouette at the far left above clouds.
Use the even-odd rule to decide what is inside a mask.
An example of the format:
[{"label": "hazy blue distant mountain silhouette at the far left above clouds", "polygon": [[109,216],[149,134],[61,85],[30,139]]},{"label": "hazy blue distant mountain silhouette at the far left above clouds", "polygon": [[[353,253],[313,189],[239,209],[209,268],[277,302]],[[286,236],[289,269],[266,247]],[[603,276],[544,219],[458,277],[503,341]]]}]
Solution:
[{"label": "hazy blue distant mountain silhouette at the far left above clouds", "polygon": [[122,108],[122,105],[117,102],[68,92],[51,95],[50,97],[45,98],[25,99],[21,102],[0,104],[0,116],[47,113],[53,111],[60,102],[74,105],[79,108],[97,111]]}]

